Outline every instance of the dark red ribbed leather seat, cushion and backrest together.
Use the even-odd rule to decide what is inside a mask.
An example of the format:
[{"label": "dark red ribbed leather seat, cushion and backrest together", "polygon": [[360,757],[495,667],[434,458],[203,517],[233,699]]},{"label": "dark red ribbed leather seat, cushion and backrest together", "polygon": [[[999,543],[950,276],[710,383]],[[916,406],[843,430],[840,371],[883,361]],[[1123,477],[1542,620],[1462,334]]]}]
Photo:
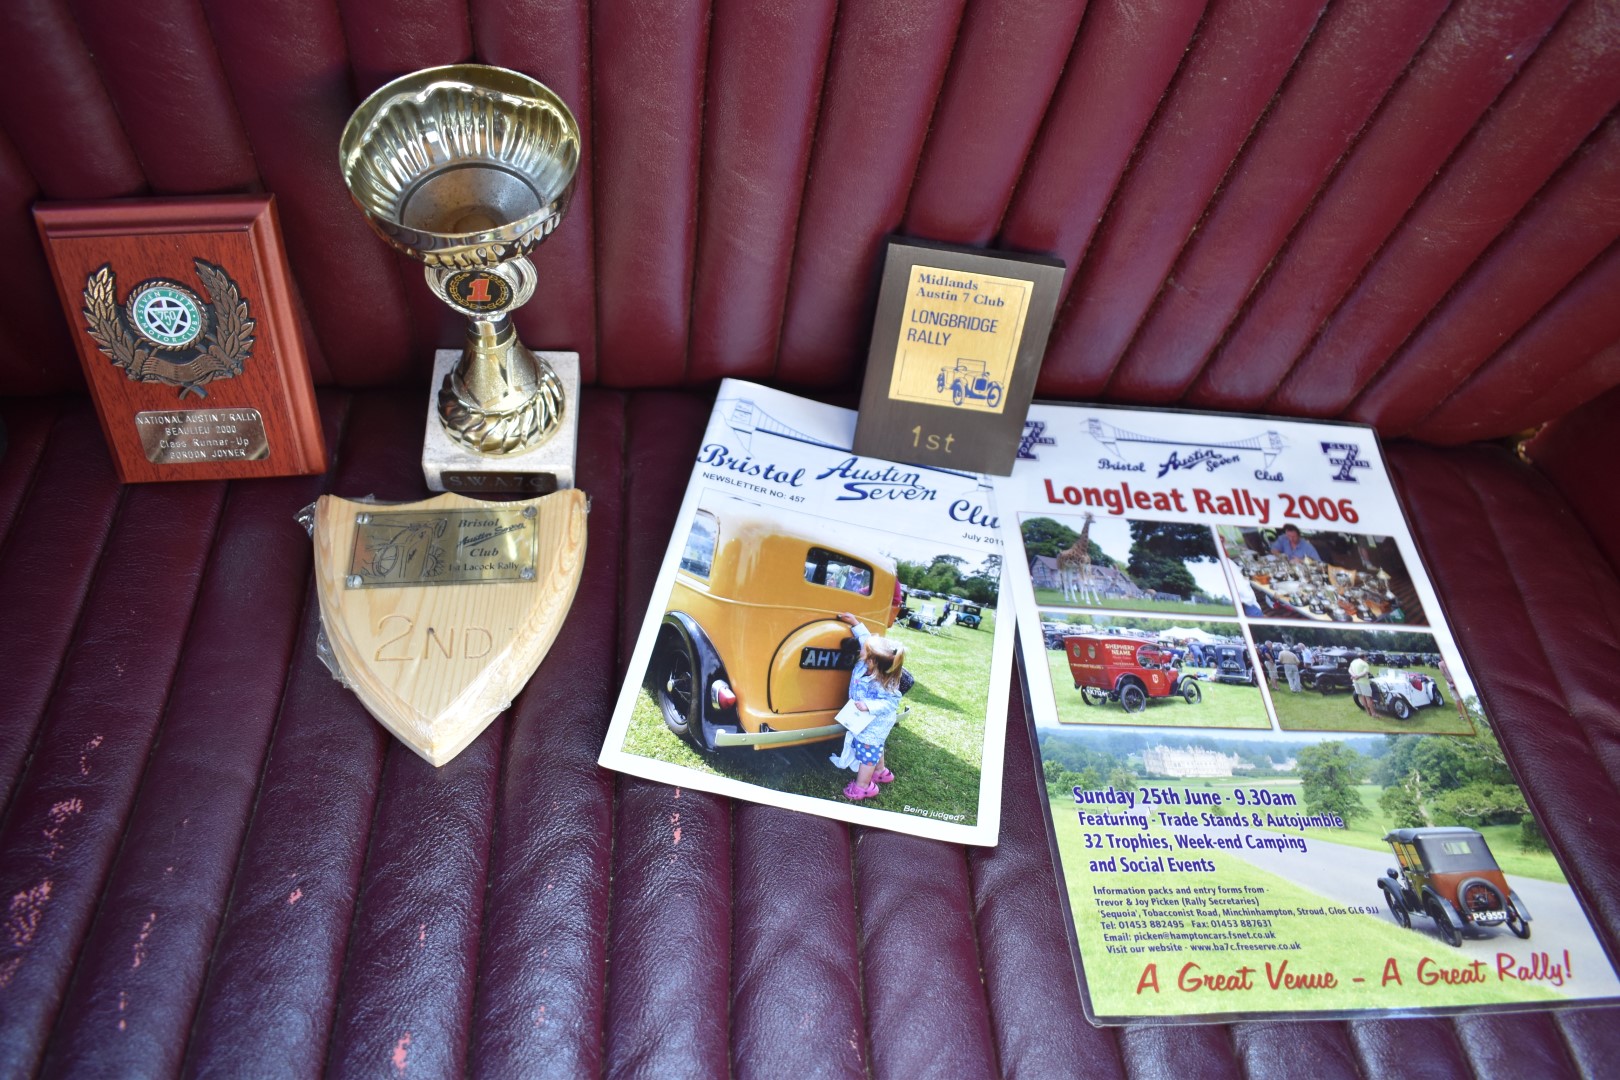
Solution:
[{"label": "dark red ribbed leather seat, cushion and backrest together", "polygon": [[[1620,16],[1398,8],[8,5],[0,1075],[1614,1072],[1615,1010],[1090,1028],[1016,696],[993,850],[595,767],[706,385],[852,385],[888,232],[1048,251],[1045,393],[1418,439],[1419,544],[1620,944]],[[468,58],[585,125],[520,322],[583,355],[593,502],[564,636],[436,771],[316,661],[293,513],[423,495],[457,329],[335,146],[386,78]],[[280,206],[332,470],[120,487],[28,207],[241,189]],[[1479,442],[1547,419],[1537,465]]]}]

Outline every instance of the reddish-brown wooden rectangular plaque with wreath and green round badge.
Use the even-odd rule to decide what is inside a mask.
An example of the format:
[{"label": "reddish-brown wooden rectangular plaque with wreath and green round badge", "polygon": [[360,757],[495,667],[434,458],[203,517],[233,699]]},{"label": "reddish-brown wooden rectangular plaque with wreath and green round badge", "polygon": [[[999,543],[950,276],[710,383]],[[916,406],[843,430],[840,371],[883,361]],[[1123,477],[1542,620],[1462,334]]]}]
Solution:
[{"label": "reddish-brown wooden rectangular plaque with wreath and green round badge", "polygon": [[272,196],[34,207],[118,476],[326,470]]}]

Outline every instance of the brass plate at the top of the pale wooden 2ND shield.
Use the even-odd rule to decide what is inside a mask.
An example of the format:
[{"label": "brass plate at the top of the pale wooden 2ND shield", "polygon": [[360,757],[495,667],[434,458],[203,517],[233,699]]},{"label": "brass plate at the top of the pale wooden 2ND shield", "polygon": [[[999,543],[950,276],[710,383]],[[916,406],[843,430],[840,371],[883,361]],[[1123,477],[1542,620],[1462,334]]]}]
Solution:
[{"label": "brass plate at the top of the pale wooden 2ND shield", "polygon": [[355,515],[352,589],[533,581],[533,507]]}]

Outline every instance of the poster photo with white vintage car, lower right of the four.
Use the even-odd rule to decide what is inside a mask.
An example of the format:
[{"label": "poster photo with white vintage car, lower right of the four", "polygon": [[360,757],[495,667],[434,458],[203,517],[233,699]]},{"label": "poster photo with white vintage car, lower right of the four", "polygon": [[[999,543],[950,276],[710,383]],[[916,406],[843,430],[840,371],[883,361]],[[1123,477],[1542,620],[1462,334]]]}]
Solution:
[{"label": "poster photo with white vintage car, lower right of the four", "polygon": [[[1277,724],[1294,732],[1387,732],[1392,735],[1471,735],[1473,687],[1460,690],[1440,669],[1432,633],[1353,627],[1252,625],[1256,644],[1299,657],[1299,693],[1281,665],[1272,687]],[[1351,662],[1367,661],[1372,711],[1351,696]],[[1460,667],[1460,665],[1458,665]]]}]

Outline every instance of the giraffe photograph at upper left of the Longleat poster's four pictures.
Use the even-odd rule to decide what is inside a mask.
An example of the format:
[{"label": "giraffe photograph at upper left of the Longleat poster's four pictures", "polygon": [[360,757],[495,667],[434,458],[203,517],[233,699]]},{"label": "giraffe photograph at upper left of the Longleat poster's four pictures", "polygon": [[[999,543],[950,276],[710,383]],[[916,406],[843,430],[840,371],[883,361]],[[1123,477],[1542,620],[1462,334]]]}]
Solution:
[{"label": "giraffe photograph at upper left of the Longleat poster's four pictures", "polygon": [[1207,525],[1085,512],[1025,515],[1019,531],[1042,606],[1238,614]]}]

